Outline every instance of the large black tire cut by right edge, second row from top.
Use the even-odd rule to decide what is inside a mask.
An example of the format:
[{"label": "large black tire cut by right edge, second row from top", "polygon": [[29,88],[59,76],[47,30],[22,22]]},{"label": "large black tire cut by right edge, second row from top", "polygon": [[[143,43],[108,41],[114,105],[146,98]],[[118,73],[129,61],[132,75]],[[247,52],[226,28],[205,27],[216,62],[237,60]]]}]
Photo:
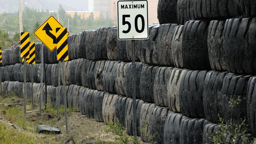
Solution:
[{"label": "large black tire cut by right edge, second row from top", "polygon": [[255,73],[256,17],[226,20],[223,47],[230,73]]}]

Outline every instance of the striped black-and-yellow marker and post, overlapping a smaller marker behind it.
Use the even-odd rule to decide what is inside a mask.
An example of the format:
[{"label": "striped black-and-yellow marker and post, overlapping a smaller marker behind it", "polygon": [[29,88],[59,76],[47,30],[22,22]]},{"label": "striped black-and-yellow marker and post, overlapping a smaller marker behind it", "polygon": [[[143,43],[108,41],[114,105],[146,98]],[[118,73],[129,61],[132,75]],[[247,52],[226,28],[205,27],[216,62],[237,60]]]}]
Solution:
[{"label": "striped black-and-yellow marker and post, overlapping a smaller marker behind it", "polygon": [[29,32],[20,33],[20,57],[24,60],[24,112],[26,113],[26,59],[29,58]]}]

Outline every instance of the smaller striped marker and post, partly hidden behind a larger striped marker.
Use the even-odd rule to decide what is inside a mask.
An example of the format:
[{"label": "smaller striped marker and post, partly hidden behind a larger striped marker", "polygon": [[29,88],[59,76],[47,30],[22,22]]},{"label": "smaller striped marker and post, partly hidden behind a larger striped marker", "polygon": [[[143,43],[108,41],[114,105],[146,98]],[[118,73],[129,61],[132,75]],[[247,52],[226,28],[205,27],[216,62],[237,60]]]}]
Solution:
[{"label": "smaller striped marker and post, partly hidden behind a larger striped marker", "polygon": [[32,85],[32,90],[31,90],[31,96],[32,96],[32,109],[34,110],[34,98],[33,98],[33,81],[34,81],[34,68],[33,65],[36,64],[36,47],[35,43],[31,42],[29,44],[29,58],[27,59],[28,64],[32,64],[31,71],[32,71],[32,76],[31,76],[31,85]]}]

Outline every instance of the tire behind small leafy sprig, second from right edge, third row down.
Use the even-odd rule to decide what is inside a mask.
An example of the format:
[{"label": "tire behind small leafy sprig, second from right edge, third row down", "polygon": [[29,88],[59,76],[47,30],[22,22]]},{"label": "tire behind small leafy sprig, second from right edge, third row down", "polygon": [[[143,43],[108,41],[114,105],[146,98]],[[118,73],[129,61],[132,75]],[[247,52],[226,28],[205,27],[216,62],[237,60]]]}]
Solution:
[{"label": "tire behind small leafy sprig, second from right edge, third row down", "polygon": [[[224,122],[239,124],[241,118],[247,119],[246,95],[249,79],[252,75],[232,75],[226,76],[223,80],[220,97],[220,117]],[[240,97],[241,101],[236,107],[230,107],[230,99],[236,100]]]}]

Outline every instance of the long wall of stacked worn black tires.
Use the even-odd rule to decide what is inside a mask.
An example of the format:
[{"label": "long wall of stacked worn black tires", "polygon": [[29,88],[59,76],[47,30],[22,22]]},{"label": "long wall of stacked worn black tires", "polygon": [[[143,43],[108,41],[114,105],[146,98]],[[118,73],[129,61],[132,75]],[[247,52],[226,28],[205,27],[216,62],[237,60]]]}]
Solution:
[{"label": "long wall of stacked worn black tires", "polygon": [[[222,7],[218,8],[218,5]],[[255,3],[214,0],[159,0],[161,25],[149,25],[149,39],[135,41],[136,122],[133,120],[131,41],[117,39],[117,28],[85,30],[68,36],[64,64],[68,107],[97,122],[117,119],[144,142],[212,143],[219,117],[238,124],[245,118],[256,137]],[[20,47],[3,51],[4,93],[40,97],[41,49],[47,97],[58,97],[56,52],[36,44],[36,64],[24,68]],[[33,68],[33,81],[31,84]],[[62,81],[61,81],[62,85]],[[63,87],[60,103],[64,104]],[[45,93],[45,87],[43,89]],[[231,99],[241,102],[230,107]],[[45,99],[45,97],[44,97]],[[142,130],[142,131],[141,131]]]}]

